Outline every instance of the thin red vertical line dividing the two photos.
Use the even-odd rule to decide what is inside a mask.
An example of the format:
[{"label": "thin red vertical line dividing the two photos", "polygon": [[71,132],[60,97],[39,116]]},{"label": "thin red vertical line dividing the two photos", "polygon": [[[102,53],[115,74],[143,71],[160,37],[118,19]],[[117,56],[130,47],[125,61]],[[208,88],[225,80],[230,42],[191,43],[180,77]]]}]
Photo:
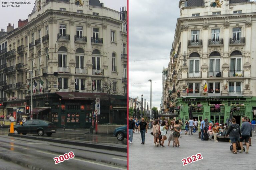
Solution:
[{"label": "thin red vertical line dividing the two photos", "polygon": [[127,170],[129,169],[129,0],[127,0]]}]

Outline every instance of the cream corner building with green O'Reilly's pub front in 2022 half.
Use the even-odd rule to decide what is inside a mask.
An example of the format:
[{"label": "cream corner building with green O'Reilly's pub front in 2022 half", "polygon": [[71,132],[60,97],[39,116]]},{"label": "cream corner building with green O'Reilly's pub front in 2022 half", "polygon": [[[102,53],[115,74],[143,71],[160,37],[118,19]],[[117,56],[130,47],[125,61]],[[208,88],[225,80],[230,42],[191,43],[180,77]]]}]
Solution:
[{"label": "cream corner building with green O'Reilly's pub front in 2022 half", "polygon": [[[217,6],[216,6],[217,5]],[[180,18],[170,54],[164,103],[179,107],[179,117],[228,123],[255,119],[256,2],[180,0]],[[170,82],[170,83],[169,83]],[[205,85],[207,90],[205,90]]]}]

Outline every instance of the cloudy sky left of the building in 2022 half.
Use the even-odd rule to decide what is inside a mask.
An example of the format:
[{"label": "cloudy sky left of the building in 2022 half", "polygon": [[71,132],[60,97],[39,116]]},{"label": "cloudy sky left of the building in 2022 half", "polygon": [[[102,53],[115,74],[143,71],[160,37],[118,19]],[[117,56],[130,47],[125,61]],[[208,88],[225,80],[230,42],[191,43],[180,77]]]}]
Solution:
[{"label": "cloudy sky left of the building in 2022 half", "polygon": [[[160,108],[162,70],[168,66],[179,0],[129,0],[129,97]],[[165,58],[165,59],[161,59]],[[166,59],[168,58],[168,59]],[[135,60],[135,61],[134,61]],[[142,60],[142,61],[138,61]]]}]

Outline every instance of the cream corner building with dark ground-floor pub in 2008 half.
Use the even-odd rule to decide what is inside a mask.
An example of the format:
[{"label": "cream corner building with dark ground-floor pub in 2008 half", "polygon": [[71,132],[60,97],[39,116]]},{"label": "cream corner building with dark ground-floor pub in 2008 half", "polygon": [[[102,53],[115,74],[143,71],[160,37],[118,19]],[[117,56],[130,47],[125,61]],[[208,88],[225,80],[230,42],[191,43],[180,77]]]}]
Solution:
[{"label": "cream corner building with dark ground-floor pub in 2008 half", "polygon": [[90,127],[91,103],[100,97],[99,123],[126,123],[125,7],[118,12],[99,0],[36,0],[28,20],[20,20],[5,38],[6,115],[14,116],[13,107],[24,108],[23,102],[29,105],[28,87],[37,85],[33,119]]}]

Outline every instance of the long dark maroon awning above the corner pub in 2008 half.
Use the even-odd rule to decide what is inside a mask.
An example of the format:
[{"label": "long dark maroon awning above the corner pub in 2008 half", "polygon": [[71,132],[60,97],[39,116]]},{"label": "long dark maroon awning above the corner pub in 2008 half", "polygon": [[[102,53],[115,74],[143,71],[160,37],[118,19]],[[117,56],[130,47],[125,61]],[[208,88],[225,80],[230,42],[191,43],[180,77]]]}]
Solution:
[{"label": "long dark maroon awning above the corner pub in 2008 half", "polygon": [[79,93],[79,92],[55,92],[57,95],[61,96],[62,99],[67,100],[85,100],[85,99],[95,99],[107,98],[104,93]]}]

